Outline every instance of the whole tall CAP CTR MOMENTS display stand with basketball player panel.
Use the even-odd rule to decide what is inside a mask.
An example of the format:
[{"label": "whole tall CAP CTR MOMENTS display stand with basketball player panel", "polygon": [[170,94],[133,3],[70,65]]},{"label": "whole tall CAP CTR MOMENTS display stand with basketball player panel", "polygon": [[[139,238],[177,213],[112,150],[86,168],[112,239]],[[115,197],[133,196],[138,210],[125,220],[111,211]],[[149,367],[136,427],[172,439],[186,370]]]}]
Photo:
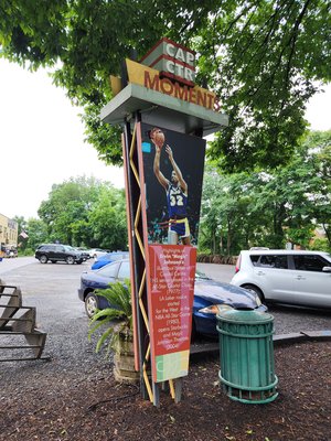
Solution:
[{"label": "whole tall CAP CTR MOMENTS display stand with basketball player panel", "polygon": [[[227,125],[215,94],[195,85],[195,54],[162,39],[111,78],[102,119],[124,125],[136,368],[143,397],[175,401],[188,375],[204,135]],[[150,379],[151,372],[151,379]]]}]

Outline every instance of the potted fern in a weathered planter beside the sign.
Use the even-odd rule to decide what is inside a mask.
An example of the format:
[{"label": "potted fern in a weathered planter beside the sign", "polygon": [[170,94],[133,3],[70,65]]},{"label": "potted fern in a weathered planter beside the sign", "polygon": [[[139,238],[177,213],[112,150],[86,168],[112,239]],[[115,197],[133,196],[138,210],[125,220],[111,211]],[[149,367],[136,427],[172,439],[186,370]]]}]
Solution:
[{"label": "potted fern in a weathered planter beside the sign", "polygon": [[114,375],[120,383],[136,383],[139,373],[135,370],[135,349],[132,331],[132,304],[130,280],[125,283],[109,283],[105,290],[96,290],[104,297],[109,308],[98,310],[89,321],[88,338],[100,327],[106,330],[99,336],[96,352],[106,348],[106,356],[114,352]]}]

